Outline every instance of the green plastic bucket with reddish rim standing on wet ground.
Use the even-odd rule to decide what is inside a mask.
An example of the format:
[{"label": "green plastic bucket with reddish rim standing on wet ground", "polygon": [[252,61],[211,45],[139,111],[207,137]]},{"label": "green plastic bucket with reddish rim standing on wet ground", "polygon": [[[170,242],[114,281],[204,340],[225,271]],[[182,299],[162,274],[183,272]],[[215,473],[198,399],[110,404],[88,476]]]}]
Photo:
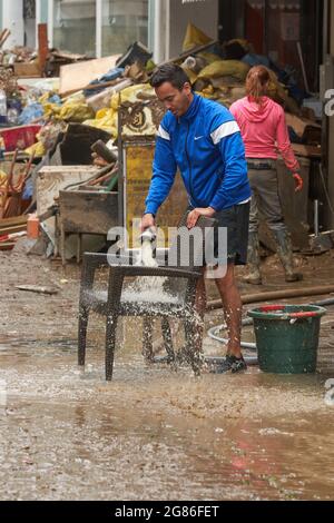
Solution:
[{"label": "green plastic bucket with reddish rim standing on wet ground", "polygon": [[268,305],[249,310],[261,371],[315,373],[321,318],[325,314],[325,308],[312,305]]}]

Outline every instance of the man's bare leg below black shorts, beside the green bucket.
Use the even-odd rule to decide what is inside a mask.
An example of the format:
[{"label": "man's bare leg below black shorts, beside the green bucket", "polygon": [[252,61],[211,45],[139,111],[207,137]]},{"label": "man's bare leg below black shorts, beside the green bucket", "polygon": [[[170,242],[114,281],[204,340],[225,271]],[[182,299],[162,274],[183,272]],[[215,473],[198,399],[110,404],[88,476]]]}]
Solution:
[{"label": "man's bare leg below black shorts, beside the green bucket", "polygon": [[234,275],[234,264],[227,265],[226,275],[223,278],[216,279],[216,285],[219,290],[225,320],[228,332],[227,355],[240,358],[242,347],[242,298],[239,289],[236,285]]}]

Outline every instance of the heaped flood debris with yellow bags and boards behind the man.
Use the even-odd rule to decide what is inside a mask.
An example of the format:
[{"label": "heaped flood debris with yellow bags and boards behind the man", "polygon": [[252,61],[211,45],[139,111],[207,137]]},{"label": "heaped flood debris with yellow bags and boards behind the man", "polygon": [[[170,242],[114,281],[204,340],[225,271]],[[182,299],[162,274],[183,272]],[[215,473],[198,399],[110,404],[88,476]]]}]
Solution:
[{"label": "heaped flood debris with yellow bags and boards behind the man", "polygon": [[[130,46],[124,56],[89,60],[84,56],[49,50],[42,68],[40,55],[40,50],[27,48],[14,48],[0,55],[0,98],[3,93],[7,106],[7,114],[0,114],[0,155],[4,160],[30,165],[30,172],[23,169],[24,176],[16,185],[12,167],[8,176],[2,174],[2,218],[22,213],[24,198],[27,207],[36,209],[36,180],[47,166],[94,164],[100,169],[92,180],[87,182],[87,179],[75,177],[73,182],[82,181],[85,190],[87,187],[117,190],[117,158],[111,161],[106,150],[92,152],[91,147],[97,141],[105,147],[108,144],[114,154],[119,107],[156,100],[149,85],[156,66],[151,53],[139,42]],[[185,37],[184,52],[170,62],[185,69],[196,92],[226,107],[245,96],[245,79],[250,67],[267,66],[272,71],[269,96],[285,108],[295,151],[305,157],[321,156],[321,125],[314,111],[303,107],[308,93],[299,87],[295,71],[292,72],[288,66],[279,68],[267,57],[256,55],[245,40],[219,45],[191,24]],[[28,81],[27,71],[22,69],[20,73],[18,68],[32,63],[39,68],[39,77],[59,75],[59,78]],[[151,134],[154,126],[148,127]],[[143,127],[140,132],[145,134]],[[16,206],[9,205],[13,200]],[[53,205],[57,207],[58,201],[52,201],[51,207]]]}]

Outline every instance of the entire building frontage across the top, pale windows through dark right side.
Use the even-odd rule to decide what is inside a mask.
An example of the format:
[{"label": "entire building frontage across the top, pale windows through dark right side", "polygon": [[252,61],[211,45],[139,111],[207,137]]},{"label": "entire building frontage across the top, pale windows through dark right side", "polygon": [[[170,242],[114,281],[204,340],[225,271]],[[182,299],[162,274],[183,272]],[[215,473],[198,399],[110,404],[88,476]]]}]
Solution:
[{"label": "entire building frontage across the top, pale windows through dark right side", "polygon": [[[311,93],[334,89],[334,0],[0,0],[7,48],[36,47],[38,23],[48,23],[50,48],[99,58],[137,40],[159,63],[179,55],[188,22],[213,40],[252,41],[256,53],[302,71]],[[334,228],[334,117],[324,115],[323,136],[325,226]]]}]

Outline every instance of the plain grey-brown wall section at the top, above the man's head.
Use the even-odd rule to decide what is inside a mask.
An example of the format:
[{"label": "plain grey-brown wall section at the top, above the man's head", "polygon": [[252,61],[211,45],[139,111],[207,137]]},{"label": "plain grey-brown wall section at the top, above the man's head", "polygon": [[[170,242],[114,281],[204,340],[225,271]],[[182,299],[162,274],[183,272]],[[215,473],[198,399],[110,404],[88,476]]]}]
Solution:
[{"label": "plain grey-brown wall section at the top, above the man's head", "polygon": [[208,37],[216,39],[218,36],[218,0],[190,3],[170,0],[169,58],[181,52],[188,22],[197,26]]}]

